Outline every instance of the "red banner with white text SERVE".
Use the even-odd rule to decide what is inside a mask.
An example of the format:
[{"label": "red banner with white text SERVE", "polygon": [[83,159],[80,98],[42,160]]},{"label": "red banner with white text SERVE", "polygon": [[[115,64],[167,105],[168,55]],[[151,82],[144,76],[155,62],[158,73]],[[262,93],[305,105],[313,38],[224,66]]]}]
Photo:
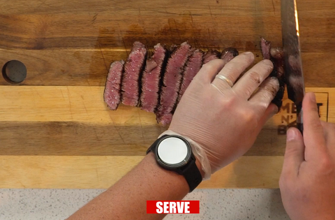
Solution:
[{"label": "red banner with white text SERVE", "polygon": [[148,214],[199,214],[199,200],[149,200]]}]

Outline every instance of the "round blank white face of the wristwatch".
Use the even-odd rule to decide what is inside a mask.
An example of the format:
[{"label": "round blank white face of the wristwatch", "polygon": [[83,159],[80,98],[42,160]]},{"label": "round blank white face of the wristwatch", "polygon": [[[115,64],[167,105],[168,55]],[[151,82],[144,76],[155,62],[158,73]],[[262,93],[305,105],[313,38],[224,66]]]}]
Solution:
[{"label": "round blank white face of the wristwatch", "polygon": [[191,148],[180,138],[169,137],[157,147],[159,159],[168,166],[181,166],[191,158]]}]

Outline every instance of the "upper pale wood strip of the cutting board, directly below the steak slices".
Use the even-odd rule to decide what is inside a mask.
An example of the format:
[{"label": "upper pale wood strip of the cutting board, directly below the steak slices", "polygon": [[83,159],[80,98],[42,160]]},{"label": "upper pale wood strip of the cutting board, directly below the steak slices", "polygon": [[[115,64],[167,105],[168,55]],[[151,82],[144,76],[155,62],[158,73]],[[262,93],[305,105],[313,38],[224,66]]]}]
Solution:
[{"label": "upper pale wood strip of the cutting board, directly below the steak slices", "polygon": [[[109,110],[103,101],[103,91],[104,87],[1,86],[0,122],[156,124],[154,114],[140,108],[120,105],[116,111]],[[335,88],[306,88],[306,91],[329,94],[329,100],[335,95]],[[324,99],[320,101],[325,102]]]}]

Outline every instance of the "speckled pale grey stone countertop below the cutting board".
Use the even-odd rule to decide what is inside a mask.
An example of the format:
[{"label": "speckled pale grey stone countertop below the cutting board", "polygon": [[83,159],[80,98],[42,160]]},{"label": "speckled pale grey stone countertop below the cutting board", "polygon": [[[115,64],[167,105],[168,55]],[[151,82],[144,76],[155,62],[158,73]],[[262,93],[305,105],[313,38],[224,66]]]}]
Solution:
[{"label": "speckled pale grey stone countertop below the cutting board", "polygon": [[[0,219],[66,219],[103,189],[0,189]],[[289,219],[278,189],[198,189],[186,200],[200,200],[200,214],[172,219]]]}]

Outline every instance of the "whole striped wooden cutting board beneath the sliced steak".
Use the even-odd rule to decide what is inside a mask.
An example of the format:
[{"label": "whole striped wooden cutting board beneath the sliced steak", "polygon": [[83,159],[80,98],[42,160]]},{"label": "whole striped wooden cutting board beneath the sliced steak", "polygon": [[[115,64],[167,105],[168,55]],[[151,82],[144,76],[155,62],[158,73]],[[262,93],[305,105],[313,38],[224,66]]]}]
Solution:
[{"label": "whole striped wooden cutting board beneath the sliced steak", "polygon": [[[133,41],[237,47],[262,59],[264,36],[281,45],[280,1],[0,0],[0,68],[27,66],[19,85],[0,78],[0,188],[107,188],[131,170],[166,128],[155,116],[106,108],[107,69]],[[320,117],[335,122],[334,26],[330,1],[298,1],[306,90]],[[285,130],[295,108],[262,130],[252,149],[202,188],[276,188]]]}]

